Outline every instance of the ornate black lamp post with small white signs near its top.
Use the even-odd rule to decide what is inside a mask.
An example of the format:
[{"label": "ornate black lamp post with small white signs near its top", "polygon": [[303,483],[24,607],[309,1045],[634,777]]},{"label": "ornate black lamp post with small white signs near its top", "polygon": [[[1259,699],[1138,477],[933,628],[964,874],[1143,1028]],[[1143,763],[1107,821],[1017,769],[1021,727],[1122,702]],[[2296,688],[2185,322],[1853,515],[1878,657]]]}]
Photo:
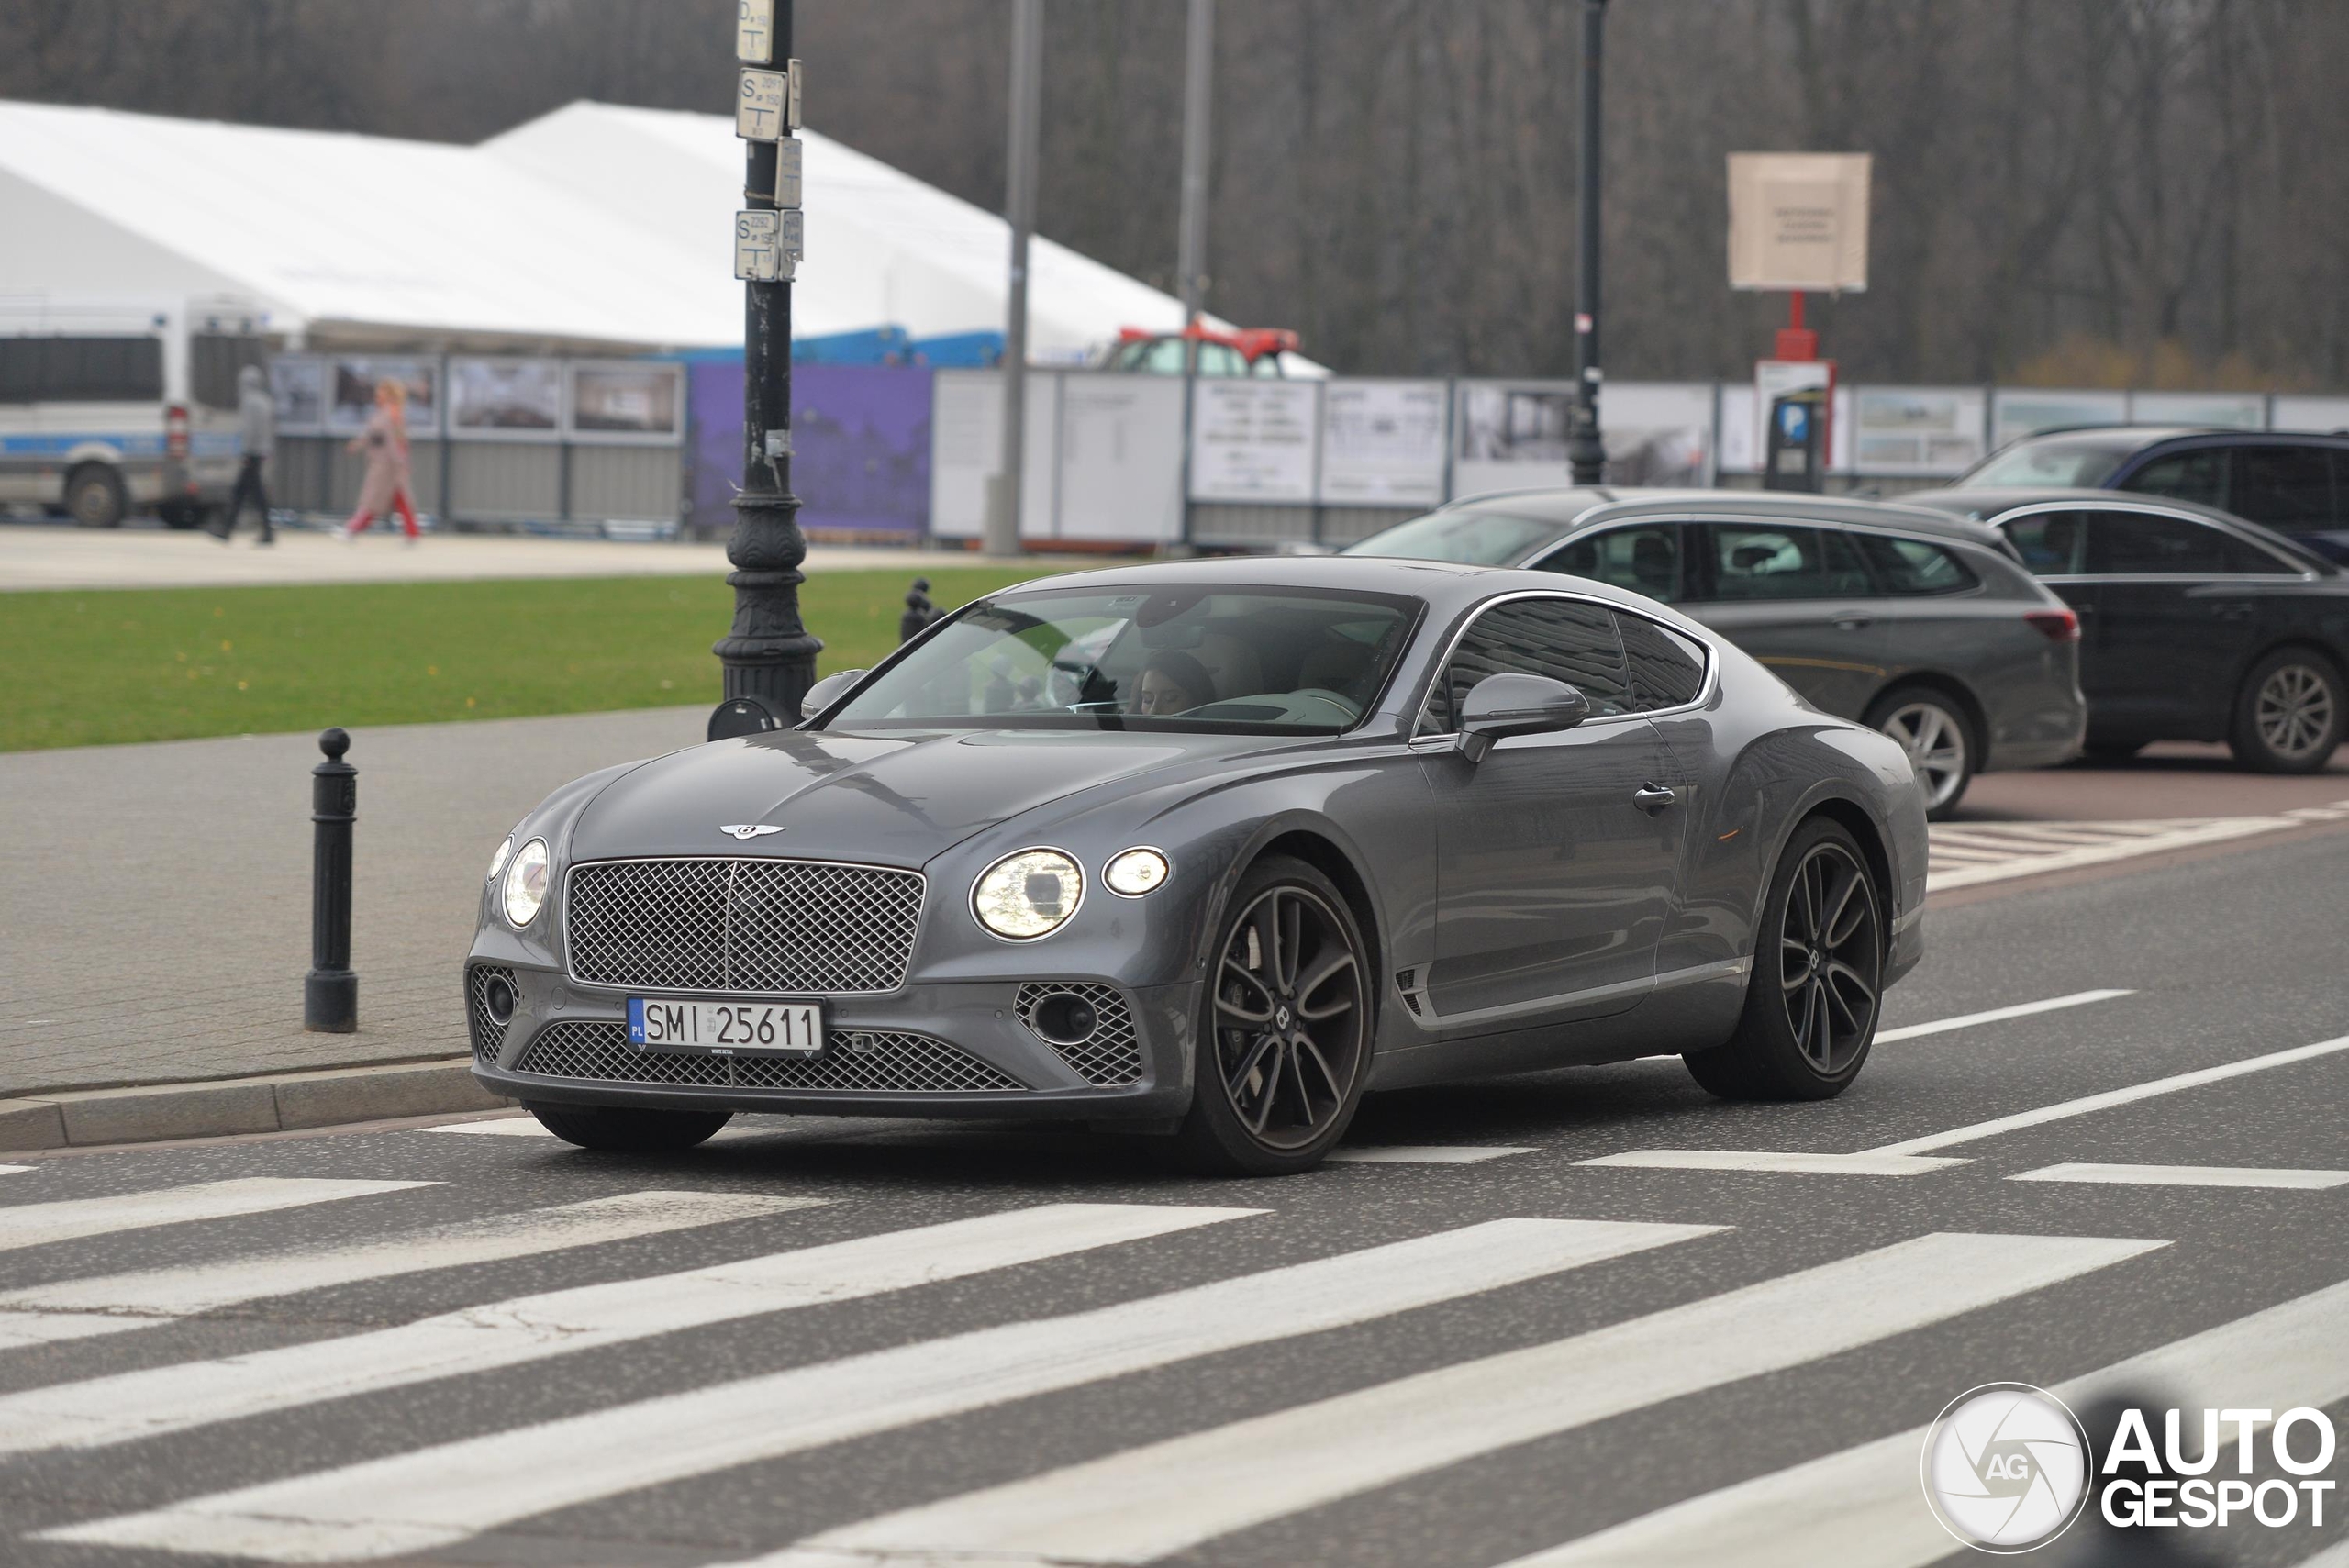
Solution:
[{"label": "ornate black lamp post with small white signs near its top", "polygon": [[[792,275],[803,251],[792,0],[738,0],[735,61],[735,134],[747,148],[742,211],[735,214],[735,277],[745,284],[742,493],[726,542],[735,617],[712,646],[726,671],[712,739],[799,723],[799,702],[815,685],[822,650],[799,620],[808,540],[799,533],[799,498],[792,495]],[[749,702],[740,702],[745,697]],[[763,723],[756,709],[766,709]]]}]

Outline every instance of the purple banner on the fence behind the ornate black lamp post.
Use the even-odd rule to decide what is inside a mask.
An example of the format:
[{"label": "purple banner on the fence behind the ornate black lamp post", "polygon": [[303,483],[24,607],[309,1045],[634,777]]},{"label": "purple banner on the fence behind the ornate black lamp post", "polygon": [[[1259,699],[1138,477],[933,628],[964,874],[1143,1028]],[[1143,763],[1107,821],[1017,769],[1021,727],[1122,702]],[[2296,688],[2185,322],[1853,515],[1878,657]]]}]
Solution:
[{"label": "purple banner on the fence behind the ornate black lamp post", "polygon": [[[691,369],[698,533],[733,528],[742,479],[742,361]],[[930,371],[792,366],[792,488],[815,538],[911,540],[930,528]]]}]

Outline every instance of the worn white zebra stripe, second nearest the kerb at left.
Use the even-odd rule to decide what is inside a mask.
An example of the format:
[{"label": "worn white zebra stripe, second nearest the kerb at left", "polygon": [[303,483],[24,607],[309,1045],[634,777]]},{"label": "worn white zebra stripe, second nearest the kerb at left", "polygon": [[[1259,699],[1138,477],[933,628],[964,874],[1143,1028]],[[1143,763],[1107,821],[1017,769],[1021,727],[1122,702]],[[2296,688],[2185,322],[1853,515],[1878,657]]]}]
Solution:
[{"label": "worn white zebra stripe, second nearest the kerb at left", "polygon": [[268,1251],[223,1263],[66,1279],[31,1291],[0,1293],[0,1350],[148,1329],[197,1312],[359,1279],[531,1258],[568,1246],[599,1246],[822,1204],[822,1197],[742,1192],[620,1192],[559,1209],[524,1209],[521,1214],[493,1214],[430,1230],[409,1230],[352,1246]]}]

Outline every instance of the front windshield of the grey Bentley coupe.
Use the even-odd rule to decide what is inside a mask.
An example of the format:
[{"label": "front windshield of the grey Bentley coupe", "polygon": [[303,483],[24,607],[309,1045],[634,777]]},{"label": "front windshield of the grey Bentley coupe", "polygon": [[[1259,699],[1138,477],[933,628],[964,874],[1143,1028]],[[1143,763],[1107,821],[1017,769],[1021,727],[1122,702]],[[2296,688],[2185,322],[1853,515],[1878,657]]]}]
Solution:
[{"label": "front windshield of the grey Bentley coupe", "polygon": [[1353,728],[1416,599],[1167,584],[972,606],[829,728],[1337,735]]}]

